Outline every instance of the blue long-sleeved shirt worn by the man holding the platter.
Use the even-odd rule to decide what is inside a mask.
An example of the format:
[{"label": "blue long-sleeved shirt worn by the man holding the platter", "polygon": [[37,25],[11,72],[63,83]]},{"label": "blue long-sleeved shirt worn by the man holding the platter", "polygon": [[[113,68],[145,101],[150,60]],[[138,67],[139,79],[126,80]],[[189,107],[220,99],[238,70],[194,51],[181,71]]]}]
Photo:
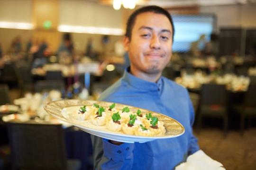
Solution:
[{"label": "blue long-sleeved shirt worn by the man holding the platter", "polygon": [[102,93],[100,100],[165,114],[179,121],[185,133],[175,138],[121,145],[92,135],[95,169],[172,170],[199,150],[192,133],[194,111],[188,91],[174,81],[161,77],[153,83],[125,71],[119,81]]}]

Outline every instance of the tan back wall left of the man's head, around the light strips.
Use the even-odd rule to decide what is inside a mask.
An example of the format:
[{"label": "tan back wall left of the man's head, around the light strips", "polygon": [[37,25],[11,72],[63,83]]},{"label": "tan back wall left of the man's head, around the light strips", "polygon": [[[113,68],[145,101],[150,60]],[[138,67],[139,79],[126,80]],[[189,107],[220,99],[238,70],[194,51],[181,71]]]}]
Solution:
[{"label": "tan back wall left of the man's head, around the light strips", "polygon": [[[99,5],[95,2],[86,0],[54,1],[59,3],[59,8],[55,8],[54,11],[54,14],[56,14],[56,10],[58,10],[58,21],[53,18],[53,29],[47,31],[42,28],[42,23],[47,18],[42,16],[44,14],[42,12],[40,13],[40,10],[43,9],[44,6],[47,6],[47,4],[49,5],[51,3],[50,0],[0,0],[0,21],[33,22],[37,26],[35,30],[0,28],[0,44],[3,53],[7,53],[11,41],[16,36],[21,36],[23,49],[25,49],[29,38],[33,37],[34,40],[39,41],[45,39],[51,46],[51,49],[55,52],[63,35],[63,33],[55,30],[56,23],[72,26],[110,28],[123,28],[125,25],[125,22],[122,19],[123,9],[116,11],[112,9],[111,6]],[[39,20],[35,20],[38,19],[38,15]],[[72,33],[72,37],[75,49],[79,53],[84,52],[89,38],[93,39],[93,49],[100,52],[103,52],[104,50],[107,50],[108,52],[113,51],[114,43],[121,38],[121,36],[110,36],[109,45],[104,47],[101,43],[102,35]]]}]

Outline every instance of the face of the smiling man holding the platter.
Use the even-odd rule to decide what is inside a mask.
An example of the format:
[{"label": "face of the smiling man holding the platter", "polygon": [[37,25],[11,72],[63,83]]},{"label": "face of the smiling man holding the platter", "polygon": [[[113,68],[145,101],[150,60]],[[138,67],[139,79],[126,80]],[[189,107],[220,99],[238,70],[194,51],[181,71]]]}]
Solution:
[{"label": "face of the smiling man holding the platter", "polygon": [[172,55],[172,25],[162,14],[139,14],[132,29],[131,39],[125,37],[131,70],[146,73],[162,73]]}]

